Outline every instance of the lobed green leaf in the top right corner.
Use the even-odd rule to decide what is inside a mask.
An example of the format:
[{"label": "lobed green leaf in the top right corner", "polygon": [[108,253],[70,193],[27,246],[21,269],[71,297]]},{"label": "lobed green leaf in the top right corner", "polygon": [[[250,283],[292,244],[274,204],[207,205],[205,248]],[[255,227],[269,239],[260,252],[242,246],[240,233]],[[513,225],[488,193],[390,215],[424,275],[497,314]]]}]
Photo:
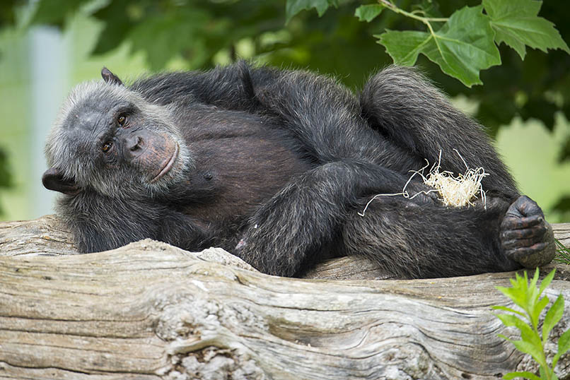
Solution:
[{"label": "lobed green leaf in the top right corner", "polygon": [[537,16],[542,1],[483,0],[483,6],[496,31],[496,42],[508,44],[521,59],[525,58],[525,45],[543,52],[547,49],[562,49],[570,53],[554,24]]}]

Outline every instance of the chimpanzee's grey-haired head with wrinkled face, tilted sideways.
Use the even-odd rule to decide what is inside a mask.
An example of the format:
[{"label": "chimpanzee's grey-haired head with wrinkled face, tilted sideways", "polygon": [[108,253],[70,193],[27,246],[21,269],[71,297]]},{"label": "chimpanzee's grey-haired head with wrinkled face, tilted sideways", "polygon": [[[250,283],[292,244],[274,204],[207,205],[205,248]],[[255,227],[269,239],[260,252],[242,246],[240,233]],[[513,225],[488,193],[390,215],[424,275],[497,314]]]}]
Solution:
[{"label": "chimpanzee's grey-haired head with wrinkled face, tilted sideways", "polygon": [[78,85],[48,138],[47,189],[153,196],[182,181],[192,160],[168,109],[122,83]]}]

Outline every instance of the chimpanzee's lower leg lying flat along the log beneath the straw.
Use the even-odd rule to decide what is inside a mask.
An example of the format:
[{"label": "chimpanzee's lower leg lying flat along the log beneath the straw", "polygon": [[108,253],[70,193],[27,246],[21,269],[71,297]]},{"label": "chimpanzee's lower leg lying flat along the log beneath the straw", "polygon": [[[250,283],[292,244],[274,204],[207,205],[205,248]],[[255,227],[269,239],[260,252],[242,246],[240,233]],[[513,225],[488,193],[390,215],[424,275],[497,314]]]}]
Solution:
[{"label": "chimpanzee's lower leg lying flat along the log beneath the straw", "polygon": [[[361,200],[360,207],[365,204]],[[507,206],[501,198],[492,198],[484,209],[480,204],[469,208],[416,206],[402,198],[379,197],[363,216],[349,214],[339,244],[346,254],[367,256],[400,278],[512,271],[520,268],[521,258],[533,253],[538,256],[531,267],[551,261],[554,248],[543,241],[544,225],[538,227],[542,234],[536,233],[540,221],[534,216],[518,219],[527,228],[518,230],[519,234],[509,231],[512,239],[499,238]],[[521,243],[523,236],[528,240]],[[507,241],[512,250],[505,249]]]}]

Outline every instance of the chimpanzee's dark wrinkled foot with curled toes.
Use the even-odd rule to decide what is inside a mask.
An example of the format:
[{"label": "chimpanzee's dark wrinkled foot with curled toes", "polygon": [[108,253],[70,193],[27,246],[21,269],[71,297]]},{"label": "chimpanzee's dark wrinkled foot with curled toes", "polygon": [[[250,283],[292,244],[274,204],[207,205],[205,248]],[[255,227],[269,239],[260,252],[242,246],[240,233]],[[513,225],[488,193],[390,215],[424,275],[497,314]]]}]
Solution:
[{"label": "chimpanzee's dark wrinkled foot with curled toes", "polygon": [[501,249],[526,268],[543,266],[554,258],[554,234],[535,201],[519,196],[501,222]]}]

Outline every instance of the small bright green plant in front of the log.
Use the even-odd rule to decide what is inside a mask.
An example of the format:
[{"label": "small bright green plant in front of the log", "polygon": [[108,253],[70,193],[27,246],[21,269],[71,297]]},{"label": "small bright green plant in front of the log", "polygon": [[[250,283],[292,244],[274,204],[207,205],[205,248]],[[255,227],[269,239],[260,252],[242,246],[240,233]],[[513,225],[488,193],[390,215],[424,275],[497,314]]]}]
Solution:
[{"label": "small bright green plant in front of the log", "polygon": [[535,276],[528,283],[528,275],[525,271],[524,277],[516,274],[516,279],[511,278],[513,287],[496,287],[503,292],[504,295],[513,300],[513,302],[523,311],[511,309],[510,307],[494,306],[495,310],[508,311],[511,314],[496,314],[505,326],[515,326],[520,331],[520,340],[511,340],[506,336],[499,335],[501,338],[513,343],[517,350],[524,352],[533,357],[540,365],[540,377],[531,372],[509,372],[503,376],[503,379],[515,379],[523,377],[530,380],[557,380],[554,374],[554,368],[560,357],[570,350],[570,329],[565,331],[558,340],[558,351],[552,358],[549,365],[545,354],[545,343],[547,342],[550,331],[562,318],[564,312],[564,297],[559,295],[552,307],[548,309],[545,319],[542,322],[541,331],[538,328],[538,320],[542,311],[547,306],[549,299],[547,296],[540,297],[548,285],[554,278],[554,272],[548,275],[540,283],[537,288],[538,268],[536,268]]}]

